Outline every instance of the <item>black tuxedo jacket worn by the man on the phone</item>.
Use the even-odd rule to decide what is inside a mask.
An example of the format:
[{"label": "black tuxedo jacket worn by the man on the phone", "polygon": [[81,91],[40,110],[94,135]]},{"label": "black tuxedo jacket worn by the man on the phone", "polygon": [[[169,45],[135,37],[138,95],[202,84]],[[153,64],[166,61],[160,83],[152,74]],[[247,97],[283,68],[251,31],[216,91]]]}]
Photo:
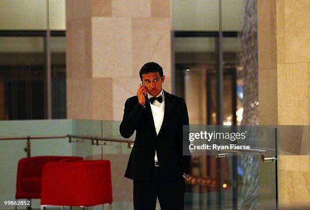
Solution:
[{"label": "black tuxedo jacket worn by the man on the phone", "polygon": [[126,100],[120,133],[127,139],[136,131],[135,143],[125,172],[125,177],[129,179],[150,180],[155,150],[163,179],[181,178],[183,172],[189,173],[190,156],[183,156],[183,144],[188,148],[189,141],[183,141],[182,138],[183,125],[188,125],[186,103],[184,99],[165,90],[164,92],[165,113],[158,135],[148,97],[145,100],[145,107],[138,102],[137,96]]}]

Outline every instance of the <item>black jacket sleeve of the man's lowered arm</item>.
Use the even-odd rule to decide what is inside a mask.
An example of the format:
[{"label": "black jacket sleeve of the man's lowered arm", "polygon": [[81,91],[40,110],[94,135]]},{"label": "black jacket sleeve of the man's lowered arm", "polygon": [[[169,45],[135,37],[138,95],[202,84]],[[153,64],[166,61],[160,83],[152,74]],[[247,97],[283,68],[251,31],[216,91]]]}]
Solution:
[{"label": "black jacket sleeve of the man's lowered arm", "polygon": [[[184,99],[182,99],[182,104],[181,104],[181,120],[179,122],[179,142],[182,142],[180,144],[181,148],[181,155],[182,155],[182,163],[181,163],[181,168],[182,168],[182,173],[185,172],[186,174],[189,174],[189,162],[190,162],[190,152],[189,152],[189,140],[188,140],[188,132],[183,133],[183,125],[189,125],[189,120],[188,120],[188,113],[187,113],[187,107]],[[183,137],[184,135],[184,137]],[[184,148],[184,149],[183,149]],[[184,151],[185,150],[185,151]],[[183,152],[185,154],[183,154]]]}]

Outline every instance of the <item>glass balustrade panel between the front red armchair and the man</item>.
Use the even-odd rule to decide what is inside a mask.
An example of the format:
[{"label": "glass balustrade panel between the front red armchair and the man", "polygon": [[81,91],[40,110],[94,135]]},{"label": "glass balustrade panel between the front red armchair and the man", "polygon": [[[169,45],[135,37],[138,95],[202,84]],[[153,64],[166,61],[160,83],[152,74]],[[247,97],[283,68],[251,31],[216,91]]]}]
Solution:
[{"label": "glass balustrade panel between the front red armchair and the man", "polygon": [[[101,120],[74,120],[74,134],[83,136],[99,137],[109,140],[123,140],[119,132],[120,121]],[[128,140],[134,140],[135,134]],[[74,143],[76,154],[86,159],[108,159],[111,161],[113,209],[133,209],[132,180],[124,177],[129,154],[129,144],[124,142],[84,140]],[[105,204],[105,208],[108,205]],[[102,209],[102,206],[94,206],[92,209]],[[158,208],[160,209],[160,208]]]}]

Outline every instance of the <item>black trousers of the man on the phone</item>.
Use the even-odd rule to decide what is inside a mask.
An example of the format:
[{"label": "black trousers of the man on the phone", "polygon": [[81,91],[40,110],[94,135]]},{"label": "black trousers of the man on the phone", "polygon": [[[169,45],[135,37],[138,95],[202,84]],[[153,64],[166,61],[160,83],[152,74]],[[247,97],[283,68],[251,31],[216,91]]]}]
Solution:
[{"label": "black trousers of the man on the phone", "polygon": [[184,192],[184,178],[162,180],[159,167],[154,167],[150,181],[133,181],[134,209],[155,210],[158,197],[161,210],[183,210]]}]

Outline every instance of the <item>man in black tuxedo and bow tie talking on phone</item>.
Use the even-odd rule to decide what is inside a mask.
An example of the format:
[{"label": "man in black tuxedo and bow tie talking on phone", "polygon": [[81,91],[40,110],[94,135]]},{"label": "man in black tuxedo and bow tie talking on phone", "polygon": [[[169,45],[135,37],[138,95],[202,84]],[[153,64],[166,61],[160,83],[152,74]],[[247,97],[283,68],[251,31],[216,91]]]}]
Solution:
[{"label": "man in black tuxedo and bow tie talking on phone", "polygon": [[[184,187],[190,156],[183,155],[189,141],[183,141],[183,125],[188,125],[184,99],[163,90],[162,67],[146,63],[140,70],[137,95],[127,99],[120,133],[129,138],[136,131],[125,177],[133,180],[135,210],[184,208]],[[189,153],[188,153],[189,154]]]}]

